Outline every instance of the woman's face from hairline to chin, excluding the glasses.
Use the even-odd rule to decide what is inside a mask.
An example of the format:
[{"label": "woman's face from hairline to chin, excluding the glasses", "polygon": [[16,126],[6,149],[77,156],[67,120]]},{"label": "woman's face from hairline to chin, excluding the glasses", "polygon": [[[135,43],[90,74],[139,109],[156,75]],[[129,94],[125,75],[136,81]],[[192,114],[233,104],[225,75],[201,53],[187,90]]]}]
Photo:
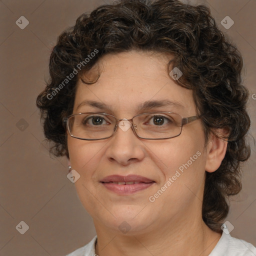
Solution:
[{"label": "woman's face from hairline to chin, excluding the glasses", "polygon": [[[192,91],[177,85],[166,71],[169,59],[165,54],[140,51],[105,55],[99,62],[102,72],[97,82],[78,81],[73,113],[104,112],[117,119],[155,111],[196,115]],[[107,108],[83,104],[85,100]],[[145,101],[164,100],[178,104],[138,108]],[[125,233],[130,228],[129,234],[138,234],[201,214],[206,151],[200,120],[184,125],[181,134],[170,139],[140,139],[131,128],[120,127],[107,139],[89,141],[69,135],[67,139],[72,169],[80,174],[77,193],[96,229],[104,226]],[[112,184],[111,190],[101,182],[109,175],[140,175],[153,182],[121,193],[118,185],[131,184]]]}]

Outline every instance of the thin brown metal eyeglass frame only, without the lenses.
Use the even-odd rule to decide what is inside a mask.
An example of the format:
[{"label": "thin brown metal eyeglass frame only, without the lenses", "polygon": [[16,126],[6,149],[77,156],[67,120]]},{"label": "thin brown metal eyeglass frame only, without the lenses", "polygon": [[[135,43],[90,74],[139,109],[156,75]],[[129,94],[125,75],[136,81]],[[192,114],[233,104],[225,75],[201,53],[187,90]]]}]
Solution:
[{"label": "thin brown metal eyeglass frame only, without the lenses", "polygon": [[[71,132],[70,132],[70,130],[69,130],[68,119],[69,119],[70,117],[74,116],[74,115],[78,115],[78,114],[90,114],[90,113],[91,113],[91,114],[95,113],[95,114],[102,114],[102,115],[110,115],[110,116],[114,117],[114,119],[115,119],[115,125],[114,125],[114,129],[113,129],[113,133],[112,133],[110,136],[104,137],[104,138],[80,138],[80,137],[76,137],[76,136],[72,135]],[[136,117],[136,116],[139,116],[139,115],[143,115],[143,114],[153,114],[153,113],[173,113],[173,114],[177,114],[177,115],[179,115],[179,116],[181,117],[181,115],[178,114],[178,113],[168,112],[168,111],[141,113],[141,114],[137,114],[137,115],[133,116],[131,119],[127,119],[127,118],[117,119],[117,118],[116,118],[114,115],[112,115],[112,114],[101,113],[101,112],[80,112],[80,113],[71,114],[71,115],[69,115],[69,116],[67,116],[67,117],[63,117],[63,118],[62,118],[62,121],[63,121],[63,123],[65,124],[65,127],[67,128],[67,131],[68,131],[68,133],[69,133],[69,135],[70,135],[71,137],[77,138],[77,139],[82,139],[82,140],[100,140],[100,139],[107,139],[107,138],[112,137],[112,136],[114,135],[114,133],[116,132],[117,126],[118,126],[118,124],[119,124],[120,121],[128,121],[128,122],[130,122],[130,124],[131,124],[131,125],[130,125],[130,126],[131,126],[131,129],[132,129],[133,133],[134,133],[138,138],[142,138],[142,139],[169,139],[169,138],[174,138],[174,137],[179,136],[179,135],[181,134],[183,125],[188,124],[188,123],[190,123],[190,122],[192,122],[192,121],[195,121],[195,120],[200,119],[200,116],[198,116],[198,115],[193,115],[193,116],[188,116],[188,117],[181,117],[180,132],[179,132],[179,134],[177,134],[177,135],[175,135],[175,136],[172,136],[172,137],[167,137],[167,138],[143,138],[143,137],[140,137],[140,136],[136,133],[135,128],[134,128],[134,126],[133,126],[133,122],[132,122],[133,118]],[[134,124],[134,125],[135,125],[135,124]]]}]

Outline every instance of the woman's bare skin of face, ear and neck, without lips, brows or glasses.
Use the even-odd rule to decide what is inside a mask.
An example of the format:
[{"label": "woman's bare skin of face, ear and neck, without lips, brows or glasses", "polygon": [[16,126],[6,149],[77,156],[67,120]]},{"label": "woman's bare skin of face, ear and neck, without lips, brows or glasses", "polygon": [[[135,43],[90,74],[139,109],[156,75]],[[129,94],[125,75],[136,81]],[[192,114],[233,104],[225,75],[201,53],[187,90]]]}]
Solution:
[{"label": "woman's bare skin of face, ear and neck, without lips, brows or glasses", "polygon": [[[182,117],[196,115],[192,91],[179,86],[167,73],[171,59],[161,53],[129,51],[105,55],[97,65],[101,74],[94,84],[77,83],[73,113],[99,111],[117,118],[132,118],[150,111],[173,111]],[[86,74],[92,77],[95,68]],[[138,109],[147,100],[178,101],[183,108],[162,106]],[[104,102],[109,109],[87,105],[83,100]],[[221,130],[219,131],[221,132]],[[205,170],[215,171],[227,142],[210,136],[205,147],[200,120],[186,124],[179,136],[146,140],[131,128],[117,129],[114,136],[86,141],[67,136],[69,160],[80,178],[78,196],[92,216],[96,253],[104,255],[208,255],[220,238],[201,218]],[[201,153],[154,202],[150,195],[159,190],[196,152]],[[99,180],[111,174],[138,174],[155,181],[131,195],[117,195]],[[122,233],[118,226],[131,227]]]}]

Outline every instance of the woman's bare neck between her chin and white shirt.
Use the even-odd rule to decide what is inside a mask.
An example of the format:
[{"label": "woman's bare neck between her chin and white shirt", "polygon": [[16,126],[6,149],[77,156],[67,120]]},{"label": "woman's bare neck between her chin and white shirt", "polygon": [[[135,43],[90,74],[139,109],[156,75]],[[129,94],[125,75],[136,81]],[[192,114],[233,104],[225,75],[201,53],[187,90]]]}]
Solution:
[{"label": "woman's bare neck between her chin and white shirt", "polygon": [[139,233],[120,234],[116,230],[102,228],[95,221],[97,244],[95,253],[99,256],[114,255],[175,255],[208,256],[217,244],[221,234],[212,231],[202,219],[173,218],[168,224],[150,225]]}]

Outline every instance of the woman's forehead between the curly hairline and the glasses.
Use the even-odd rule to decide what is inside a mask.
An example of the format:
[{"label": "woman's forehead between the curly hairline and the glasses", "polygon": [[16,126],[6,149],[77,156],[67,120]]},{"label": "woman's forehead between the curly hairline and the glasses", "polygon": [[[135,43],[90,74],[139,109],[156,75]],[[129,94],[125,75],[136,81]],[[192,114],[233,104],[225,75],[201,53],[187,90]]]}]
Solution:
[{"label": "woman's forehead between the curly hairline and the glasses", "polygon": [[167,72],[167,64],[172,58],[163,53],[141,51],[105,55],[85,74],[95,77],[99,71],[95,83],[85,84],[78,80],[74,112],[92,110],[91,107],[101,104],[112,113],[134,113],[146,107],[178,110],[181,114],[195,113],[192,91],[178,85]]}]

